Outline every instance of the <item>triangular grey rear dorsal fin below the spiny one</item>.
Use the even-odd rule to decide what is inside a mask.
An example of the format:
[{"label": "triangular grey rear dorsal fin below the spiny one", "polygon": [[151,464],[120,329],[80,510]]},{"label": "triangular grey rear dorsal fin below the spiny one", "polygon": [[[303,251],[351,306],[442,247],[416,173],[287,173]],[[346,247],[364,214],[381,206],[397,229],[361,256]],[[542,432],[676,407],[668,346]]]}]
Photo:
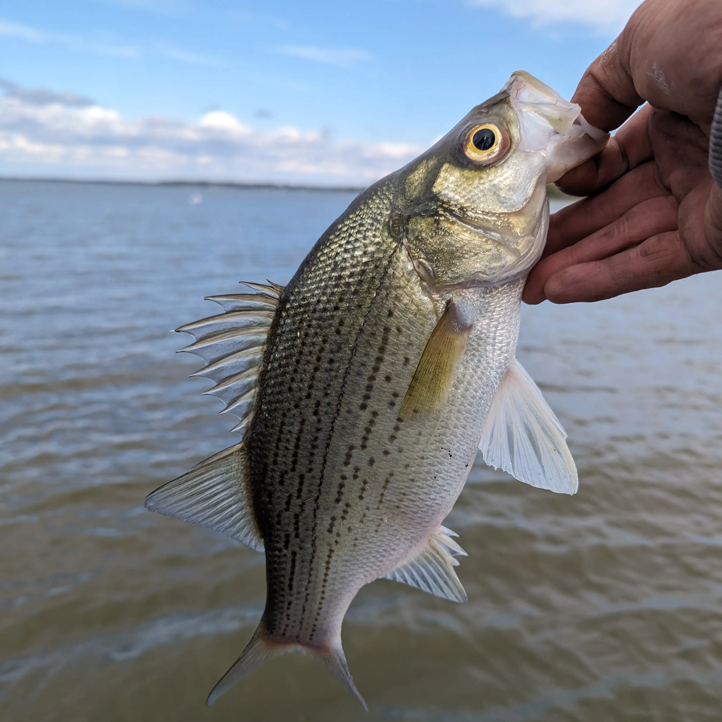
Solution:
[{"label": "triangular grey rear dorsal fin below the spiny one", "polygon": [[264,541],[253,516],[243,442],[206,458],[145,500],[146,508],[222,531],[257,552]]}]

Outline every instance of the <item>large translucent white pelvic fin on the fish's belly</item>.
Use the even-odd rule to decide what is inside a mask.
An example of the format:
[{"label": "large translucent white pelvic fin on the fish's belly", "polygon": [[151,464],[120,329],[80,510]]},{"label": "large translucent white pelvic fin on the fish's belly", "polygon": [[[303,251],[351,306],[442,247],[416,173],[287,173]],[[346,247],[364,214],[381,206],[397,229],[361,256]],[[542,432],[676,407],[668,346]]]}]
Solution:
[{"label": "large translucent white pelvic fin on the fish's belly", "polygon": [[514,359],[484,425],[479,442],[484,461],[533,487],[574,494],[577,468],[566,438],[539,387]]}]

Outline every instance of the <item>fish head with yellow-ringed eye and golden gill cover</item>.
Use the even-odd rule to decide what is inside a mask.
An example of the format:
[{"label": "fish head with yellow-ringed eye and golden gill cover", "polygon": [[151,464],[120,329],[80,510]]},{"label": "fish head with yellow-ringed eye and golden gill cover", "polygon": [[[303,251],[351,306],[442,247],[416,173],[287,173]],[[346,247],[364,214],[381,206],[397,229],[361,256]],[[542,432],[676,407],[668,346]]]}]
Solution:
[{"label": "fish head with yellow-ringed eye and golden gill cover", "polygon": [[443,291],[528,273],[547,238],[547,183],[608,139],[578,105],[529,73],[514,73],[401,171],[396,225],[419,276]]}]

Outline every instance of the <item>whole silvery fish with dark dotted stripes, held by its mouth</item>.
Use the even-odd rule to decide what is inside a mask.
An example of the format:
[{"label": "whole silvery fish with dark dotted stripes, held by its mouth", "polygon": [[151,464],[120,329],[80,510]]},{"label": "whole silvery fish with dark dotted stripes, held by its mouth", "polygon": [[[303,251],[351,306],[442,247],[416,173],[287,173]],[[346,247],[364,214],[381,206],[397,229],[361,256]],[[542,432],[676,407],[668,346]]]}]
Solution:
[{"label": "whole silvery fish with dark dotted stripes, held by its mouth", "polygon": [[181,326],[240,443],[148,509],[266,554],[266,606],[213,703],[262,662],[310,653],[366,708],[341,641],[378,578],[464,602],[443,526],[477,452],[574,494],[566,434],[516,360],[521,292],[547,238],[547,183],[608,134],[524,71],[367,188],[285,286],[208,297]]}]

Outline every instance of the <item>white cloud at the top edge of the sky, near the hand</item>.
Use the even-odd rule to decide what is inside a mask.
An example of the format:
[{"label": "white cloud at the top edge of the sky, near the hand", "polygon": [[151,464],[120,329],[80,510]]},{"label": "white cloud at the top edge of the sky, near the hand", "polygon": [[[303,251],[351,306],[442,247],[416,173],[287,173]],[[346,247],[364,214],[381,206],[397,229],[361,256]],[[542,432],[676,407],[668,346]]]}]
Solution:
[{"label": "white cloud at the top edge of the sky, near the hand", "polygon": [[470,0],[472,5],[497,7],[511,17],[540,25],[573,22],[598,30],[619,32],[642,0]]}]

